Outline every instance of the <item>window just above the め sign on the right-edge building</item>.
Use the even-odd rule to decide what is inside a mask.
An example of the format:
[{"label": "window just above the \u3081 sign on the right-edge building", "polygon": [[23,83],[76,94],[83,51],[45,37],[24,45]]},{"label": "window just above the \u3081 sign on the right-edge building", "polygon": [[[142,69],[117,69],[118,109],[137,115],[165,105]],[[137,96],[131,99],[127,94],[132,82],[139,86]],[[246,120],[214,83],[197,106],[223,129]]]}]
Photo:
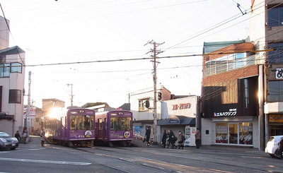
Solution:
[{"label": "window just above the \u3081 sign on the right-edge building", "polygon": [[273,49],[273,51],[268,52],[268,63],[283,63],[283,42],[268,44],[268,48]]}]

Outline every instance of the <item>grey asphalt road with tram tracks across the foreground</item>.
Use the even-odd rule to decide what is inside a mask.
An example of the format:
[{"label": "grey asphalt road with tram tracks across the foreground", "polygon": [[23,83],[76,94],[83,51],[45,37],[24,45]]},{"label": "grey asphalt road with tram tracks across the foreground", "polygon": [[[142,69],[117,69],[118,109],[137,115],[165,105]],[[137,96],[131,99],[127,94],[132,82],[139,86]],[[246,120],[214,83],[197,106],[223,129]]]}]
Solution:
[{"label": "grey asphalt road with tram tracks across the foreground", "polygon": [[0,151],[0,172],[283,172],[277,160],[255,148],[41,147],[35,142]]}]

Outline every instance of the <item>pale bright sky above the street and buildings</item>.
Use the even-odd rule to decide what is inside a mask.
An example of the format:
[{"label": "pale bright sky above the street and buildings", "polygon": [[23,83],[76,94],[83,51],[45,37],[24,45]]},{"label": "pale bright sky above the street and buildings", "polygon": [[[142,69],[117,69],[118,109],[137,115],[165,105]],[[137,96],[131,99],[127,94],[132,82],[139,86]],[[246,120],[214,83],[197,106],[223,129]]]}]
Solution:
[{"label": "pale bright sky above the street and buildings", "polygon": [[31,71],[30,95],[37,107],[47,98],[68,107],[71,91],[74,106],[120,107],[128,95],[153,89],[151,40],[160,43],[158,57],[183,56],[158,59],[157,84],[174,95],[201,95],[202,56],[184,55],[202,54],[204,42],[245,39],[250,17],[249,0],[0,3],[0,15],[10,21],[10,47],[25,51],[25,90]]}]

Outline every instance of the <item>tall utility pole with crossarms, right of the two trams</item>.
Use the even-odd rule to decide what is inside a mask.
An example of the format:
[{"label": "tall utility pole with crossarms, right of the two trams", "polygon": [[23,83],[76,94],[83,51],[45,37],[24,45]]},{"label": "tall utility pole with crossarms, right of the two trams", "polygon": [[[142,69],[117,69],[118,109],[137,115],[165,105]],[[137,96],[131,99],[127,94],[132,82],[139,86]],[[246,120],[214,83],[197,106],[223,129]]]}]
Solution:
[{"label": "tall utility pole with crossarms, right of the two trams", "polygon": [[[163,42],[164,43],[164,42]],[[154,144],[157,144],[157,112],[156,112],[156,55],[162,53],[160,50],[156,50],[156,47],[158,47],[159,45],[163,44],[163,43],[156,43],[154,42],[154,40],[151,40],[150,42],[147,42],[146,44],[154,44],[154,49],[151,49],[151,53],[154,53],[153,58],[154,60],[152,61],[154,64],[154,72],[153,72],[153,77],[154,77],[154,112],[153,112],[153,117],[154,117]],[[146,45],[144,44],[144,45]],[[148,52],[149,53],[149,52]]]}]

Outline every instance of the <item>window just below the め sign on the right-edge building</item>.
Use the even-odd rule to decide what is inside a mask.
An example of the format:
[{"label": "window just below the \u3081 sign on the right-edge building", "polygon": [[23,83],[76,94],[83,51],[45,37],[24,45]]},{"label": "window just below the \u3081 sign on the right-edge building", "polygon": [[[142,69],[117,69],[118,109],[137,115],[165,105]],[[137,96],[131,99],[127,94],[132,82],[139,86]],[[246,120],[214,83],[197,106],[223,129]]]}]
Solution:
[{"label": "window just below the \u3081 sign on the right-edge building", "polygon": [[268,102],[283,101],[283,80],[268,82]]}]

